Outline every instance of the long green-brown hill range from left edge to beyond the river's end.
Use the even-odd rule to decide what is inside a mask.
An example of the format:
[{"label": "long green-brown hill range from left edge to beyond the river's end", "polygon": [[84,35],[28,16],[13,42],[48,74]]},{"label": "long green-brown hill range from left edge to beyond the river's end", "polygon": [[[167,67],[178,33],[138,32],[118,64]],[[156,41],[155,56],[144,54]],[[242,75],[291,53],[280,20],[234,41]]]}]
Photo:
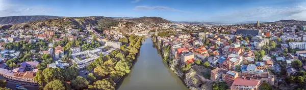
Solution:
[{"label": "long green-brown hill range from left edge to beyond the river's end", "polygon": [[25,22],[13,25],[3,25],[0,29],[17,29],[17,28],[39,28],[39,27],[65,27],[65,26],[75,26],[79,28],[84,28],[86,25],[97,26],[98,29],[110,28],[111,26],[117,26],[119,22],[129,22],[127,26],[132,26],[137,23],[171,23],[166,19],[159,17],[141,17],[141,18],[125,18],[125,19],[114,19],[111,17],[103,16],[91,16],[91,17],[63,17],[55,19],[46,19],[33,22]]}]

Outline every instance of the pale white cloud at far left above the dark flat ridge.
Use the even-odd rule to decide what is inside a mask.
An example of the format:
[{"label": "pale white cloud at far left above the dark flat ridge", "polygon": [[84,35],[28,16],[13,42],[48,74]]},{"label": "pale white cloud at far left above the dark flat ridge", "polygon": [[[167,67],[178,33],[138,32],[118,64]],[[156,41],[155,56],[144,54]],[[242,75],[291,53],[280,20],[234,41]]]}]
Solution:
[{"label": "pale white cloud at far left above the dark flat ridge", "polygon": [[10,1],[0,0],[0,17],[20,16],[20,15],[47,15],[53,9],[39,6],[24,6],[10,3]]}]

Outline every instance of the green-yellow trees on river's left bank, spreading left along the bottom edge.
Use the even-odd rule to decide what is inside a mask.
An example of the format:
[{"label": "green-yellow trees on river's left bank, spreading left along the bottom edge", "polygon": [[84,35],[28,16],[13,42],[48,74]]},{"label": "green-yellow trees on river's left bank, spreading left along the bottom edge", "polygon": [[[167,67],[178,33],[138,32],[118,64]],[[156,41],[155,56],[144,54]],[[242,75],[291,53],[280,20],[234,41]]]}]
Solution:
[{"label": "green-yellow trees on river's left bank, spreading left along the bottom edge", "polygon": [[124,44],[120,49],[111,52],[110,55],[100,55],[101,57],[86,67],[89,72],[93,71],[86,78],[79,76],[75,65],[69,67],[69,70],[39,70],[34,77],[41,85],[39,89],[116,89],[121,78],[130,73],[144,38],[133,34],[126,37],[128,38],[119,39],[119,42]]}]

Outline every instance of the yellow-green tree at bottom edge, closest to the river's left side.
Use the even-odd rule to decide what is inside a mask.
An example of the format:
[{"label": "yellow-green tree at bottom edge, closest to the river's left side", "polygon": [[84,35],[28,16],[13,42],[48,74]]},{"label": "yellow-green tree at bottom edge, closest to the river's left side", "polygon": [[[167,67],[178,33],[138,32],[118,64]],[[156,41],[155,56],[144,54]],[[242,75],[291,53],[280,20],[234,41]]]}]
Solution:
[{"label": "yellow-green tree at bottom edge, closest to the river's left side", "polygon": [[92,85],[88,86],[88,89],[105,89],[105,90],[112,90],[115,89],[116,83],[110,79],[102,79],[102,80],[97,80],[96,82],[93,82]]}]

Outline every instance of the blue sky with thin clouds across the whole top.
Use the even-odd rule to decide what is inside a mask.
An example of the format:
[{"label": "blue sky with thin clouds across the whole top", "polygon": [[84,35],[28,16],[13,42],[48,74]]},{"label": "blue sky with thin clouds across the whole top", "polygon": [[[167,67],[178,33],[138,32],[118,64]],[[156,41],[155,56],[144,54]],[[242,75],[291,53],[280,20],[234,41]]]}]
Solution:
[{"label": "blue sky with thin clouds across the whole top", "polygon": [[306,20],[306,0],[0,0],[0,17],[162,17],[171,21],[238,23]]}]

